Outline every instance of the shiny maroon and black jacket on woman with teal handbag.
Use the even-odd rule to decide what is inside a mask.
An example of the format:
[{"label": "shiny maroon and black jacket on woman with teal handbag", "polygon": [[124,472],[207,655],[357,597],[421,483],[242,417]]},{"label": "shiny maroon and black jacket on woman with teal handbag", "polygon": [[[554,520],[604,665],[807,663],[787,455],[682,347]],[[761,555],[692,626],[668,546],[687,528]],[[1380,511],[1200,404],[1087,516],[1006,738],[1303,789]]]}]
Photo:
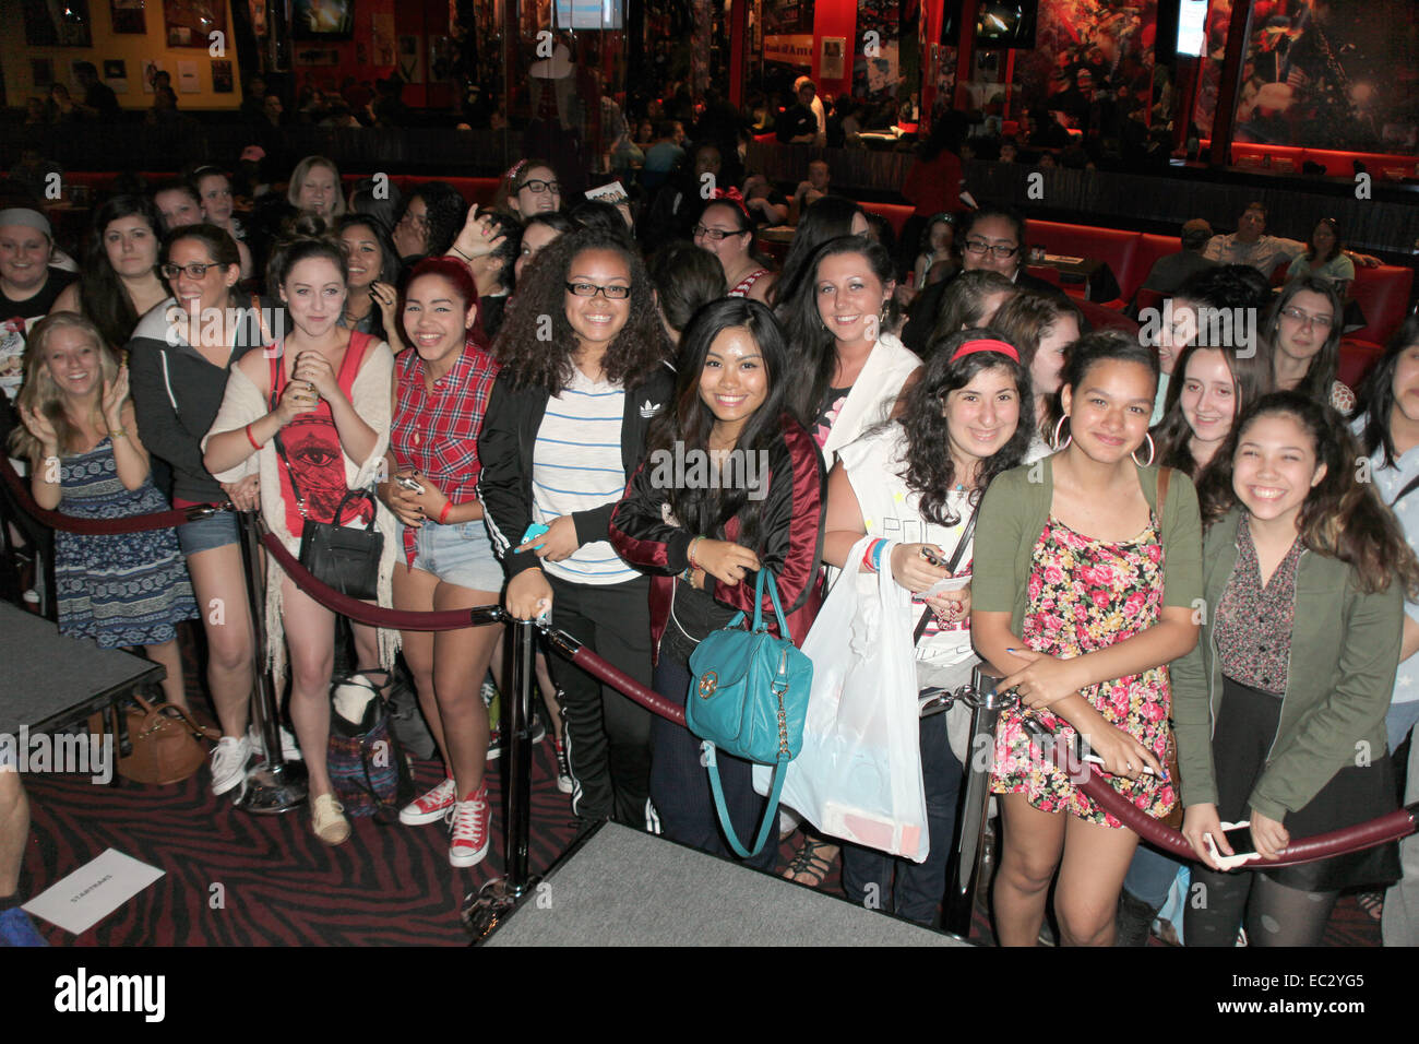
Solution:
[{"label": "shiny maroon and black jacket on woman with teal handbag", "polygon": [[[827,477],[823,457],[813,436],[788,413],[780,435],[769,449],[769,491],[763,501],[763,540],[755,548],[759,561],[773,570],[779,604],[789,622],[795,645],[807,636],[823,604],[822,570],[823,511],[827,506]],[[650,638],[654,658],[660,659],[660,638],[670,619],[675,577],[690,565],[687,551],[695,535],[666,521],[664,489],[656,489],[656,464],[643,460],[626,486],[626,493],[612,514],[610,541],[616,554],[643,572],[650,581]],[[705,534],[708,535],[708,534]],[[724,538],[739,535],[739,520],[725,524]],[[746,577],[729,587],[714,577],[705,578],[705,591],[731,609],[753,615],[753,580]],[[773,602],[763,597],[763,619],[778,632]]]}]

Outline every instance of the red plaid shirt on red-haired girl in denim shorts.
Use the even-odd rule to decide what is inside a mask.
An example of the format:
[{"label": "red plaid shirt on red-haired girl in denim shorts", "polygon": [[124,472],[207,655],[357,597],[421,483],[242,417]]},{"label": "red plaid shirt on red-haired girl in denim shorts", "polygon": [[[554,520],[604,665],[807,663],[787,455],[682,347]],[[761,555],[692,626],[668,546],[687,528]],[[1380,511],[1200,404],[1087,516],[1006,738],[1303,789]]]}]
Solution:
[{"label": "red plaid shirt on red-haired girl in denim shorts", "polygon": [[[470,339],[453,368],[424,388],[424,361],[409,348],[396,359],[399,401],[389,446],[399,470],[417,469],[454,504],[475,499],[478,430],[488,409],[498,364]],[[404,530],[406,561],[414,560],[414,530]]]}]

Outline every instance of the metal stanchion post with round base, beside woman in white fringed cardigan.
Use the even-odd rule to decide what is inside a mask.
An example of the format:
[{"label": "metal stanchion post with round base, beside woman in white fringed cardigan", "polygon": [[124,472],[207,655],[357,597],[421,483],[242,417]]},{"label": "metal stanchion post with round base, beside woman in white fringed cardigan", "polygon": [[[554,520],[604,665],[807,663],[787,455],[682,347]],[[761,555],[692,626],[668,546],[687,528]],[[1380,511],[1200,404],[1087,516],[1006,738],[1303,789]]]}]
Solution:
[{"label": "metal stanchion post with round base, beside woman in white fringed cardigan", "polygon": [[247,567],[247,598],[251,602],[253,660],[257,697],[251,700],[257,734],[265,747],[265,763],[247,773],[237,808],[260,815],[277,815],[305,804],[305,766],[287,761],[281,753],[280,693],[265,668],[265,577],[261,571],[261,535],[251,511],[237,516],[241,527],[241,558]]}]

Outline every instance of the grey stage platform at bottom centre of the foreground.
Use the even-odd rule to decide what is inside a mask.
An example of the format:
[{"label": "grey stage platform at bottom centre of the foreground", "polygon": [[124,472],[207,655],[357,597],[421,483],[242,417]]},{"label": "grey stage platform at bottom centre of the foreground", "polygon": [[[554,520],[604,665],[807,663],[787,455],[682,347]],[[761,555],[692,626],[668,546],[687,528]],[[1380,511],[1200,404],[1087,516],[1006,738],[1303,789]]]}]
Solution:
[{"label": "grey stage platform at bottom centre of the foreground", "polygon": [[485,946],[966,946],[783,878],[604,824]]}]

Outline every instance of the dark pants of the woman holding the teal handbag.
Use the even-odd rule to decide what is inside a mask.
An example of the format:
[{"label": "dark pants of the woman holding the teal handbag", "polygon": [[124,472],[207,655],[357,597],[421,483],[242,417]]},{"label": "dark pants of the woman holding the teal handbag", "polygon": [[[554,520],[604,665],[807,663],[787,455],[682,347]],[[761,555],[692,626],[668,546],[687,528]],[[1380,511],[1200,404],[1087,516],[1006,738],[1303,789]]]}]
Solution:
[{"label": "dark pants of the woman holding the teal handbag", "polygon": [[[674,663],[661,645],[660,663],[656,665],[656,692],[680,706],[685,705],[690,687],[690,670],[683,663]],[[692,845],[711,855],[738,859],[724,839],[719,814],[710,791],[710,770],[700,760],[700,740],[683,724],[667,722],[656,714],[650,723],[650,797],[660,817],[660,832],[671,841]],[[729,810],[739,844],[745,848],[759,835],[763,818],[765,798],[753,793],[753,767],[749,761],[715,751],[719,766],[719,783],[724,787],[724,803]],[[779,855],[778,824],[769,828],[769,839],[763,851],[749,859],[745,866],[772,871]]]}]

